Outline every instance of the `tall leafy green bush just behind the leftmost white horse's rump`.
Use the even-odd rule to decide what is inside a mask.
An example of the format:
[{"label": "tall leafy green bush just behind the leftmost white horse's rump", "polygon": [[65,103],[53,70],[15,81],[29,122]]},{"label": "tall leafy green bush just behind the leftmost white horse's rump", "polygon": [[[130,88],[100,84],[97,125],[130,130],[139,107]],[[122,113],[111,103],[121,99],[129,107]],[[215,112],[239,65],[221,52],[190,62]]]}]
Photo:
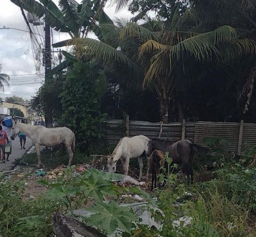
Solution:
[{"label": "tall leafy green bush just behind the leftmost white horse's rump", "polygon": [[64,112],[58,124],[75,132],[76,144],[87,150],[104,138],[101,124],[106,113],[100,112],[99,101],[106,90],[106,77],[93,62],[78,61],[73,66],[60,93]]}]

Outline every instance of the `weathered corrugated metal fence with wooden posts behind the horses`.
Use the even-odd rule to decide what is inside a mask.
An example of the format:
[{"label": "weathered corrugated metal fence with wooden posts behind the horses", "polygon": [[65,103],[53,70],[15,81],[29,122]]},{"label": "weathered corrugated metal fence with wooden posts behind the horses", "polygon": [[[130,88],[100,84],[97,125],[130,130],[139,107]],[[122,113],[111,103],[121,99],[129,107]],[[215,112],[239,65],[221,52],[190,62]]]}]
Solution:
[{"label": "weathered corrugated metal fence with wooden posts behind the horses", "polygon": [[169,138],[173,141],[188,139],[194,143],[204,145],[207,137],[220,136],[229,141],[227,150],[240,154],[241,145],[256,145],[256,124],[241,122],[160,122],[109,120],[107,125],[107,140],[110,145],[117,145],[123,136],[145,135],[148,138]]}]

